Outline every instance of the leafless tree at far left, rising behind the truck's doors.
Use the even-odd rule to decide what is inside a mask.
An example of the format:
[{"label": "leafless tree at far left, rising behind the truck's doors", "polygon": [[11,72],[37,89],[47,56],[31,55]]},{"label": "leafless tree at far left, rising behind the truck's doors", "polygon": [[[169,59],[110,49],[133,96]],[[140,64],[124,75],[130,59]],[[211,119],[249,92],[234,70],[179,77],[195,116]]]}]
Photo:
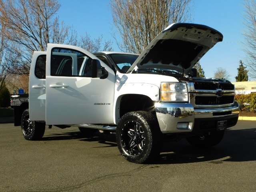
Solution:
[{"label": "leafless tree at far left, rising behind the truck's doors", "polygon": [[76,31],[54,18],[59,8],[58,0],[0,0],[5,36],[18,45],[10,51],[22,58],[14,62],[17,74],[29,74],[33,52],[45,51],[47,43],[76,44]]}]

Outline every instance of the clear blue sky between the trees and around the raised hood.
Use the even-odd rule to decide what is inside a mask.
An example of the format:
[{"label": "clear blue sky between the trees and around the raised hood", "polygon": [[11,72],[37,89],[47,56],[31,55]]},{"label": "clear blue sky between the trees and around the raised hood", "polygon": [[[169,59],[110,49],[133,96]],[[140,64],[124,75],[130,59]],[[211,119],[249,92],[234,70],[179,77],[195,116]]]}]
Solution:
[{"label": "clear blue sky between the trees and around the raised hood", "polygon": [[[113,41],[114,51],[120,51],[111,36],[116,30],[112,24],[109,0],[59,0],[59,3],[60,21],[72,25],[78,35],[87,32],[92,38],[97,38],[102,34],[104,39]],[[223,42],[216,44],[200,60],[206,77],[213,77],[216,68],[222,67],[230,74],[230,81],[236,81],[239,61],[246,61],[242,51],[243,3],[243,0],[194,0],[192,22],[215,28],[224,36]],[[249,76],[249,80],[254,79]]]}]

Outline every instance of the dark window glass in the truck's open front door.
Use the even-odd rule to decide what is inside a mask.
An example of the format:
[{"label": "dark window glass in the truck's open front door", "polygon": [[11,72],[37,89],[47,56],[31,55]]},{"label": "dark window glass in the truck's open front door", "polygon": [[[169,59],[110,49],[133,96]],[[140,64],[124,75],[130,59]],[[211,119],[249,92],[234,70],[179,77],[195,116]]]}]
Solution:
[{"label": "dark window glass in the truck's open front door", "polygon": [[92,59],[75,50],[54,48],[51,56],[51,76],[91,77]]}]

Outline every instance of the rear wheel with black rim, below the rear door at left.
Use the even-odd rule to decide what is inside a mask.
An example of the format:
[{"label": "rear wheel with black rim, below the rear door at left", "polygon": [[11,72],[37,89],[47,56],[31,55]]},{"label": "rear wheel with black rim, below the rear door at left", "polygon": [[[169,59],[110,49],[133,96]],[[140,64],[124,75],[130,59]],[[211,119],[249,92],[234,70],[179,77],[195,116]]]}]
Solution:
[{"label": "rear wheel with black rim, below the rear door at left", "polygon": [[21,130],[26,140],[37,140],[44,136],[45,124],[30,121],[28,109],[21,116]]}]

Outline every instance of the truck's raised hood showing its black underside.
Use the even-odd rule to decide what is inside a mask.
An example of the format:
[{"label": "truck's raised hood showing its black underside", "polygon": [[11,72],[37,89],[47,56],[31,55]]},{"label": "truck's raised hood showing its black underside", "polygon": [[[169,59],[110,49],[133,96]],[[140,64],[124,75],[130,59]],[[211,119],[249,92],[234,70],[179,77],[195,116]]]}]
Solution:
[{"label": "truck's raised hood showing its black underside", "polygon": [[138,69],[171,69],[186,75],[222,39],[220,32],[205,25],[171,24],[150,42],[127,73],[137,66]]}]

